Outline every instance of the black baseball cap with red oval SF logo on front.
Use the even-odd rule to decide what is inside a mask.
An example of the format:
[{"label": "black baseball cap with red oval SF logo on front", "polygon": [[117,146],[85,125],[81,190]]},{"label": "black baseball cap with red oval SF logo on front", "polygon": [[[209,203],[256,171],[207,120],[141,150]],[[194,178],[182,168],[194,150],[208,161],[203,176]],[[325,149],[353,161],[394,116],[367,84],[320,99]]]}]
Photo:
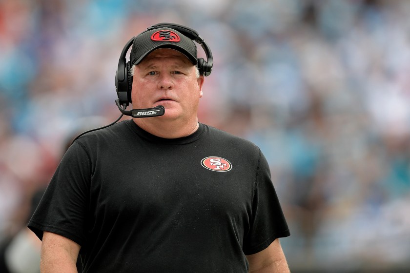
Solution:
[{"label": "black baseball cap with red oval SF logo on front", "polygon": [[159,48],[178,50],[194,65],[198,63],[197,47],[193,40],[172,28],[154,28],[138,35],[130,53],[130,64],[139,64],[149,53]]}]

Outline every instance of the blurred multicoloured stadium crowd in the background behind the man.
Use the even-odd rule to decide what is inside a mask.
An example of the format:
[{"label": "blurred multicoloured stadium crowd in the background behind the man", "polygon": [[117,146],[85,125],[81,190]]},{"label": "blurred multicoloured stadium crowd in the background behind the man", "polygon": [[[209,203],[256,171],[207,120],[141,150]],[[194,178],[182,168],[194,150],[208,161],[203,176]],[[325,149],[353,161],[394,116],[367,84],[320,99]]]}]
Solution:
[{"label": "blurred multicoloured stadium crowd in the background behind the man", "polygon": [[213,53],[200,121],[269,162],[290,269],[409,268],[409,14],[408,0],[0,0],[0,242],[79,124],[120,115],[125,43],[168,21]]}]

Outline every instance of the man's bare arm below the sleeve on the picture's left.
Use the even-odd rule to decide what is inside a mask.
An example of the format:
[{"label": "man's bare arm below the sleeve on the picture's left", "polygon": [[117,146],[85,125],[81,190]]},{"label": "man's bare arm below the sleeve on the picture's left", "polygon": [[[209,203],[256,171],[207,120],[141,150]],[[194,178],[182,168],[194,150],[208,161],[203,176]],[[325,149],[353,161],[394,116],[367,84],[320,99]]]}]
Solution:
[{"label": "man's bare arm below the sleeve on the picture's left", "polygon": [[41,273],[77,273],[80,245],[58,234],[44,232],[41,244]]}]

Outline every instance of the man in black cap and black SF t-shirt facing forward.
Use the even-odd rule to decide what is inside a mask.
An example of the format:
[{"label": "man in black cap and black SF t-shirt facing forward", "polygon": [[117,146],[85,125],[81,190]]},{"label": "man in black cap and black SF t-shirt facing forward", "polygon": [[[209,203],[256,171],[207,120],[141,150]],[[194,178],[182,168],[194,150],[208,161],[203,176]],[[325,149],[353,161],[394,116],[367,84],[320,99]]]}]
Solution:
[{"label": "man in black cap and black SF t-shirt facing forward", "polygon": [[[160,42],[158,31],[175,41]],[[130,59],[133,108],[165,113],[68,149],[29,222],[42,272],[76,272],[79,253],[83,272],[289,272],[279,242],[289,231],[265,157],[198,122],[204,73],[194,42],[148,30]]]}]

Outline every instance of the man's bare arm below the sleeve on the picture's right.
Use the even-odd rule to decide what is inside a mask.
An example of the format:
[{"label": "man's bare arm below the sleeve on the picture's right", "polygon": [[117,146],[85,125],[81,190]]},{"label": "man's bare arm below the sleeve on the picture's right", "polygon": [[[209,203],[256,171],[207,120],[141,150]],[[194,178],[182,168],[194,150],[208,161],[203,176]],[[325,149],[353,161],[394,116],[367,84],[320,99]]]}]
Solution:
[{"label": "man's bare arm below the sleeve on the picture's right", "polygon": [[246,255],[249,273],[290,273],[279,239],[256,254]]}]

